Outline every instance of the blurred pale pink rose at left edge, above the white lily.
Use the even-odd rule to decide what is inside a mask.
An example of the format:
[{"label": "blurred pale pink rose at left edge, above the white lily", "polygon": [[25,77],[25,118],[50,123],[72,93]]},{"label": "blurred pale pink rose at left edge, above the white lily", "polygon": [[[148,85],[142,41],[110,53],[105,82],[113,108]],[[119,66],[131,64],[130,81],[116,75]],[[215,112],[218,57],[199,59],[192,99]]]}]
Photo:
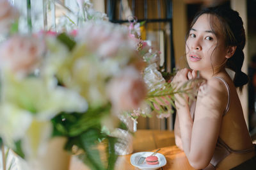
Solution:
[{"label": "blurred pale pink rose at left edge, above the white lily", "polygon": [[12,36],[0,46],[0,66],[15,73],[29,73],[42,58],[44,43],[36,37]]}]

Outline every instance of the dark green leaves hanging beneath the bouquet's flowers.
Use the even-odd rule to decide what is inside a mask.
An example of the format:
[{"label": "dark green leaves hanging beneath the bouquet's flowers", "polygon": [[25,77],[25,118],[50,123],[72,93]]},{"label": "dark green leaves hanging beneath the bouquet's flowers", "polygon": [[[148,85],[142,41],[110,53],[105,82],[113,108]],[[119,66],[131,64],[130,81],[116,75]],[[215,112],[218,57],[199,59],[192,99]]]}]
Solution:
[{"label": "dark green leaves hanging beneath the bouquet's flowers", "polygon": [[[53,135],[66,135],[68,137],[65,150],[72,151],[73,146],[77,146],[80,150],[83,150],[84,153],[79,155],[79,158],[90,169],[106,169],[106,166],[99,160],[100,153],[97,144],[102,139],[108,137],[107,134],[102,132],[101,118],[108,115],[110,109],[111,104],[97,108],[89,107],[82,114],[67,114],[62,112],[52,119],[52,124],[54,125]],[[113,141],[109,143],[111,144]],[[113,154],[109,153],[109,157],[111,157],[108,158],[110,167],[112,166],[112,162],[115,162],[115,156]]]}]

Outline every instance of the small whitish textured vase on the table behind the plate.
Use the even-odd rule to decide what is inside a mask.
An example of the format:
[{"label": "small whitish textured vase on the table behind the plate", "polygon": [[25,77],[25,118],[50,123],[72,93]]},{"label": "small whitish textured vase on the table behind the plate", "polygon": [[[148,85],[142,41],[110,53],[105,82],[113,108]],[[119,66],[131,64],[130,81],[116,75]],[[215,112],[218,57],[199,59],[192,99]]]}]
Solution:
[{"label": "small whitish textured vase on the table behind the plate", "polygon": [[117,155],[128,155],[133,151],[133,135],[131,132],[134,132],[134,121],[124,115],[119,116],[119,119],[125,123],[128,130],[116,128],[115,132],[113,132],[114,136],[118,138],[115,144],[115,151]]}]

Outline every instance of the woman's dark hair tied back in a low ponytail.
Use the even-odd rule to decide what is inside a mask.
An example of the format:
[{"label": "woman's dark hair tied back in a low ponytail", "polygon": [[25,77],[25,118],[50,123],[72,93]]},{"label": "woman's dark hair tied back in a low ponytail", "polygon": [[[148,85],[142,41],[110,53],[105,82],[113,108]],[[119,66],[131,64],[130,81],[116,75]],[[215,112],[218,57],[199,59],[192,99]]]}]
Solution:
[{"label": "woman's dark hair tied back in a low ponytail", "polygon": [[[241,68],[243,66],[244,61],[244,45],[245,45],[245,33],[244,33],[244,27],[243,27],[243,20],[239,16],[239,13],[232,10],[231,8],[223,7],[223,6],[217,6],[212,8],[205,8],[204,10],[198,12],[191,22],[191,27],[195,24],[196,20],[203,14],[210,14],[211,16],[214,16],[220,20],[222,33],[225,38],[225,45],[226,47],[229,46],[236,46],[236,52],[231,58],[227,59],[227,63],[225,65],[226,68],[230,68],[230,70],[233,70],[235,72],[234,77],[234,84],[237,88],[240,89],[240,91],[243,89],[244,84],[248,82],[248,76],[241,71]],[[212,31],[214,31],[214,27],[212,26],[214,24],[214,21],[211,19],[211,27]],[[216,33],[216,31],[214,31]],[[188,33],[189,34],[189,33]],[[220,35],[216,35],[220,36]],[[188,35],[186,36],[186,39],[188,38]]]}]

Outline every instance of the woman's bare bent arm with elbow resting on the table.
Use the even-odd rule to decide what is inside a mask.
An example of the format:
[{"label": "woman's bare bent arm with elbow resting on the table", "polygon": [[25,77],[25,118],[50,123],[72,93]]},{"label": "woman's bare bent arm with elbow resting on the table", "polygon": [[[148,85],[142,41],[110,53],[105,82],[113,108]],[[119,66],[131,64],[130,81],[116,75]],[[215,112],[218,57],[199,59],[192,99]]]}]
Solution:
[{"label": "woman's bare bent arm with elbow resting on the table", "polygon": [[200,87],[194,121],[188,107],[177,109],[182,146],[189,164],[196,169],[206,167],[211,161],[226,105],[225,85],[218,79],[211,79]]}]

